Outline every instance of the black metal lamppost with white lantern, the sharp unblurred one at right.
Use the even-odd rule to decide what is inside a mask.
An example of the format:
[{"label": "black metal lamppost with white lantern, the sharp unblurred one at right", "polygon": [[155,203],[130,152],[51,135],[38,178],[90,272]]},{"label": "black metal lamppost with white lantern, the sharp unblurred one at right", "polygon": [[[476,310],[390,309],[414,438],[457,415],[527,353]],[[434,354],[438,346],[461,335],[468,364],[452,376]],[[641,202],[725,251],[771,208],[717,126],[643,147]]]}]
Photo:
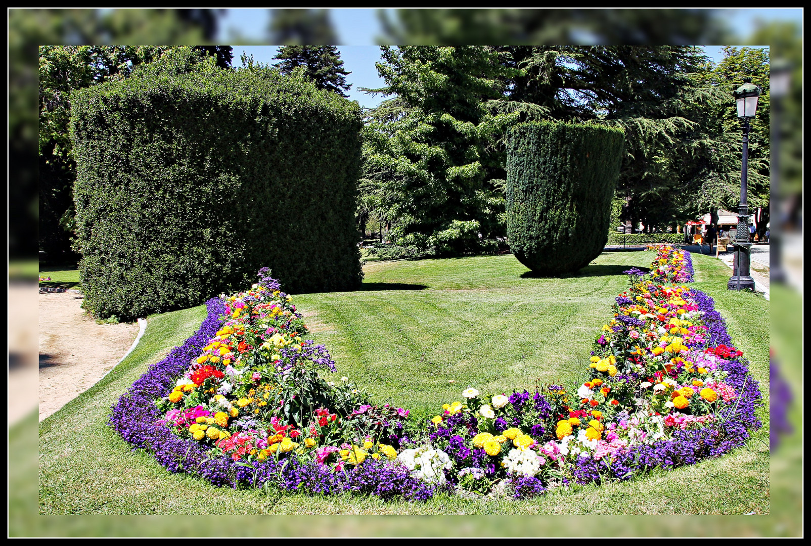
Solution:
[{"label": "black metal lamppost with white lantern, the sharp unblurred one at right", "polygon": [[732,277],[727,282],[728,290],[754,290],[755,280],[749,276],[749,206],[746,204],[746,169],[749,158],[749,119],[755,117],[757,97],[760,88],[753,84],[743,84],[736,89],[735,101],[738,106],[738,119],[744,129],[744,160],[740,166],[740,207],[738,207],[738,230],[735,235],[735,260],[732,262]]}]

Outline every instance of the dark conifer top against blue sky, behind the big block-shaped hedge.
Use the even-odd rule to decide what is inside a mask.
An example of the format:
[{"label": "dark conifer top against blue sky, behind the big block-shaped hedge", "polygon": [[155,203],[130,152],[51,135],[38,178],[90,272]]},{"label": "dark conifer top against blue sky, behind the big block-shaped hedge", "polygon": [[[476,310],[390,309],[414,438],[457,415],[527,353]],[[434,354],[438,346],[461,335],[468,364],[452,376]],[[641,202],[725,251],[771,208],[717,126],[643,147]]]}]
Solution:
[{"label": "dark conifer top against blue sky, behind the big block-shaped hedge", "polygon": [[301,69],[304,77],[316,88],[349,97],[344,91],[352,87],[346,83],[346,76],[351,72],[344,70],[344,62],[335,45],[282,45],[274,59],[281,59],[275,66],[282,74],[290,75]]}]

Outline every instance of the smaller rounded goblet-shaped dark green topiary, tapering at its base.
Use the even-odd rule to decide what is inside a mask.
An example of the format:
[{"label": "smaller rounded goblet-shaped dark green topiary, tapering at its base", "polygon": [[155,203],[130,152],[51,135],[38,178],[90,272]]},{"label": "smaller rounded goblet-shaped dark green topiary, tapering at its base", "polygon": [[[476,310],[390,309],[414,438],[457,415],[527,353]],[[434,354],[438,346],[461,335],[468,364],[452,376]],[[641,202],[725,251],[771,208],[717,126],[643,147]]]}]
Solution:
[{"label": "smaller rounded goblet-shaped dark green topiary, tapering at its base", "polygon": [[521,123],[507,139],[507,237],[536,273],[572,273],[603,252],[620,174],[620,129]]}]

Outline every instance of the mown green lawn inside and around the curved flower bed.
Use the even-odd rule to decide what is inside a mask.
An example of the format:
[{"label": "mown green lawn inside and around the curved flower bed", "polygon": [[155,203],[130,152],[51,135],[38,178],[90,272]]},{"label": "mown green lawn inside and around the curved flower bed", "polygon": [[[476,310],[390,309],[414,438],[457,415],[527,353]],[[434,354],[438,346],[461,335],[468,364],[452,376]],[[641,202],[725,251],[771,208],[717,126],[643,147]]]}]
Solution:
[{"label": "mown green lawn inside and around the curved flower bed", "polygon": [[[652,252],[604,253],[569,278],[528,276],[513,256],[367,264],[365,290],[298,294],[294,303],[309,317],[310,337],[331,351],[337,376],[350,376],[376,400],[437,411],[443,402],[459,399],[468,385],[509,392],[536,382],[577,379],[595,334],[611,316],[614,296],[624,289],[621,272],[646,267],[652,257]],[[148,364],[198,328],[205,311],[195,307],[149,317],[139,346],[114,372],[40,423],[40,513],[766,514],[769,302],[727,292],[729,269],[717,260],[693,256],[693,263],[696,286],[716,299],[766,398],[760,411],[765,427],[745,448],[723,458],[529,501],[437,497],[424,504],[385,503],[214,488],[169,474],[152,455],[132,452],[106,425],[109,406]],[[162,529],[155,532],[178,532]],[[189,532],[227,535],[229,530],[216,519],[201,518]],[[268,534],[260,528],[253,532]],[[294,534],[311,533],[324,534],[307,527]],[[54,527],[49,534],[63,535],[65,528]]]}]

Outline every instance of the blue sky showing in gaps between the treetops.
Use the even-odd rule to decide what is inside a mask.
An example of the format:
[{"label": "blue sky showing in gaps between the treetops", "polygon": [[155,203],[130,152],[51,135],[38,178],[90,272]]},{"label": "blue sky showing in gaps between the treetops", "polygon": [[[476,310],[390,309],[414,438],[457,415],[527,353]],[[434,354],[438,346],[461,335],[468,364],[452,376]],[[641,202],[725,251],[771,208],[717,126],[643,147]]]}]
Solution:
[{"label": "blue sky showing in gaps between the treetops", "polygon": [[[729,24],[735,28],[738,35],[746,37],[751,34],[757,19],[766,21],[774,19],[802,20],[802,10],[792,9],[730,9]],[[380,48],[375,45],[375,38],[380,35],[380,20],[375,9],[332,9],[330,18],[335,26],[340,43],[338,50],[344,67],[351,74],[347,81],[352,84],[349,91],[350,99],[358,101],[361,105],[372,108],[384,97],[371,97],[357,90],[358,87],[378,88],[384,85],[377,75],[375,62],[380,60]],[[229,38],[237,33],[246,41],[263,41],[268,27],[269,11],[267,9],[230,9],[220,19],[220,43],[229,43]],[[742,40],[745,41],[745,40]],[[232,42],[233,43],[233,42]],[[750,45],[751,47],[751,45]],[[723,46],[706,46],[706,54],[718,62],[722,57]],[[239,64],[239,56],[245,50],[253,55],[258,62],[270,62],[276,54],[277,47],[270,45],[234,45],[234,64]]]}]

